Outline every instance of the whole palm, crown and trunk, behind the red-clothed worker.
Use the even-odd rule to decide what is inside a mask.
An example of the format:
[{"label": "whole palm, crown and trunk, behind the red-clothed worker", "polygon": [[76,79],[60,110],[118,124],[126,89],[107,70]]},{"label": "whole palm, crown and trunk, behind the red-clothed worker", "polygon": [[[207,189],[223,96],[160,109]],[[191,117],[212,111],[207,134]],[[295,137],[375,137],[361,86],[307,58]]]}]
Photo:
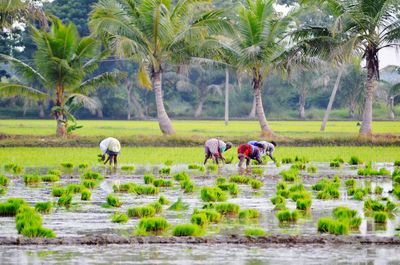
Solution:
[{"label": "whole palm, crown and trunk, behind the red-clothed worker", "polygon": [[263,81],[284,51],[283,42],[289,24],[289,17],[280,17],[274,4],[274,0],[248,0],[246,5],[241,5],[235,25],[237,32],[227,45],[235,57],[233,61],[237,61],[236,66],[252,76],[256,114],[263,136],[273,135],[264,113]]}]

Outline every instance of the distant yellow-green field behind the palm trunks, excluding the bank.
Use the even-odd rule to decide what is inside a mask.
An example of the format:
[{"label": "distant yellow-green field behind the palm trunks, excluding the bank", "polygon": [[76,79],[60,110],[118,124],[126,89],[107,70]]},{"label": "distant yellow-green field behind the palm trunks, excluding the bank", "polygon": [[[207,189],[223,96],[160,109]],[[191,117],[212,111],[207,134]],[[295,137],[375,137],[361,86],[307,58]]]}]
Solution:
[{"label": "distant yellow-green field behind the palm trunks, excluding the bank", "polygon": [[[83,125],[74,133],[79,136],[161,135],[157,121],[80,120],[78,123]],[[296,138],[356,136],[359,130],[356,121],[329,122],[324,133],[319,132],[319,121],[271,121],[269,124],[278,136]],[[257,137],[260,132],[258,121],[231,121],[225,126],[223,121],[189,120],[173,121],[173,125],[177,135],[182,136]],[[55,128],[54,120],[0,120],[0,134],[49,136],[55,134]],[[400,135],[400,121],[374,122],[373,131]]]}]

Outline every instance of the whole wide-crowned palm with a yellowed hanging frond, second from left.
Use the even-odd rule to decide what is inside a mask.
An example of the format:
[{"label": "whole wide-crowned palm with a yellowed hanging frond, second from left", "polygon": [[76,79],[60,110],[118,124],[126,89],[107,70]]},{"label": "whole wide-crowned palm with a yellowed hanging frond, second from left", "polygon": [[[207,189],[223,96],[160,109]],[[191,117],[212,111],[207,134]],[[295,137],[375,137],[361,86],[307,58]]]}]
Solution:
[{"label": "whole wide-crowned palm with a yellowed hanging frond, second from left", "polygon": [[162,73],[165,63],[189,62],[191,52],[209,34],[229,24],[220,11],[207,10],[207,0],[100,0],[89,27],[118,57],[139,63],[138,80],[153,89],[163,134],[175,130],[164,107]]}]

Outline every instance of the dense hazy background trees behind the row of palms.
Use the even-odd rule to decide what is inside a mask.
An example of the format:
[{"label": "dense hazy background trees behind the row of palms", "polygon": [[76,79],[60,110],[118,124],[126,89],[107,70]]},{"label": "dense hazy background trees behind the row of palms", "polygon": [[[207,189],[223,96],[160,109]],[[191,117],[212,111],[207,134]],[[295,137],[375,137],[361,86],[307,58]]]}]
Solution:
[{"label": "dense hazy background trees behind the row of palms", "polygon": [[[40,1],[33,2],[36,3]],[[103,25],[106,22],[102,21],[101,23],[103,24],[95,25],[96,23],[94,21],[106,14],[106,11],[104,10],[106,10],[106,7],[109,8],[107,4],[110,3],[108,2],[112,3],[112,1],[100,1],[100,3],[98,3],[94,9],[93,5],[96,4],[96,1],[93,0],[56,0],[46,3],[43,8],[47,14],[59,17],[64,23],[72,22],[76,24],[76,29],[80,36],[83,37],[89,34],[94,34],[97,35],[98,39],[104,39],[105,34],[112,34],[110,33],[112,29],[108,28],[102,32],[104,28]],[[129,1],[126,2],[128,3]],[[140,3],[141,1],[132,1],[132,3],[134,2]],[[149,3],[150,2],[152,1],[149,1]],[[177,3],[179,4],[181,2],[182,1],[172,1],[171,5],[176,5]],[[243,2],[244,6],[248,5],[246,1]],[[252,2],[253,1],[250,1],[249,3]],[[257,1],[257,3],[258,2],[264,1]],[[273,3],[274,1],[265,2],[268,2],[267,4],[269,4]],[[295,7],[299,6],[298,1],[278,1],[280,5],[276,6],[274,4],[274,7],[280,12],[289,12],[288,16],[290,16],[290,23],[288,22],[285,26],[289,27],[290,31],[307,29],[311,26],[314,28],[330,27],[335,23],[335,17],[334,14],[331,13],[332,8],[329,5],[332,5],[332,3],[335,1],[320,2],[327,2],[328,4],[320,5],[320,7],[308,5],[301,11],[296,11],[295,14],[293,14],[291,10],[294,10]],[[339,4],[343,4],[344,2],[345,1],[336,1],[336,3]],[[379,8],[374,5],[374,1],[372,0],[364,2],[368,2],[367,4],[371,5],[371,8]],[[386,1],[378,2],[389,5],[386,3]],[[120,1],[119,3],[118,1],[115,1],[114,4],[123,3],[124,1]],[[102,4],[104,5],[104,10],[101,9]],[[238,9],[237,7],[238,4],[238,1],[219,0],[214,1],[212,6],[202,5],[202,8],[206,8],[207,10],[209,8],[211,8],[211,10],[221,10],[221,13],[218,13],[219,11],[213,11],[214,13],[207,14],[208,16],[215,16],[212,18],[214,20],[219,19],[222,21],[224,19],[231,19],[231,21],[233,21],[233,27],[240,28],[241,18],[240,11],[238,11],[240,8]],[[40,8],[40,3],[37,6]],[[398,14],[398,6],[395,5],[390,8],[390,12],[397,12]],[[97,14],[96,10],[98,12]],[[92,15],[90,15],[90,12],[92,12]],[[110,14],[111,13],[106,15]],[[20,19],[23,20],[23,14],[20,16]],[[92,32],[88,26],[88,19],[90,16],[92,16]],[[5,17],[5,15],[2,17]],[[204,19],[204,17],[201,18]],[[198,19],[200,18],[198,17]],[[280,14],[268,21],[274,21],[274,19],[284,21],[286,17]],[[213,25],[212,23],[215,22],[214,20],[204,20],[202,26],[204,26],[206,22],[211,22],[211,27],[218,27],[218,29],[222,29],[224,27],[224,25]],[[36,18],[33,23],[37,28],[43,28],[43,30],[47,30],[46,28],[49,25],[43,25],[41,22],[42,21],[40,19]],[[395,23],[393,22],[393,25],[394,24]],[[23,30],[21,27],[9,28],[10,30],[2,32],[0,53],[13,56],[32,66],[35,59],[35,49],[38,46],[38,44],[35,43],[31,37],[30,33],[32,32],[32,29]],[[208,30],[210,30],[210,27]],[[229,31],[229,29],[226,30],[227,32]],[[263,29],[261,29],[260,32],[262,31]],[[288,31],[285,32],[287,33]],[[236,33],[236,35],[239,33]],[[299,35],[300,33],[301,32],[299,32]],[[115,31],[115,34],[118,35],[120,32]],[[200,33],[196,32],[196,34]],[[313,34],[313,37],[317,36],[315,33]],[[385,39],[383,41],[394,41],[400,36],[399,33],[396,34],[396,36],[389,36],[391,39]],[[346,37],[349,35],[351,35],[351,33],[346,33],[346,35],[343,36]],[[235,40],[235,42],[237,42],[235,44],[239,45],[239,42],[244,37],[245,36],[242,36],[241,39]],[[287,39],[284,39],[284,37],[282,37],[281,40],[277,39],[281,37],[282,36],[276,35],[274,37],[276,39],[273,39],[271,44],[281,41],[281,43],[279,43],[279,49],[282,51],[279,50],[278,52],[280,54],[284,54],[285,48],[289,52],[290,49],[295,46]],[[332,37],[332,35],[330,35],[330,37]],[[163,41],[165,38],[166,37],[163,36],[163,38],[160,38],[160,41]],[[151,82],[154,85],[154,73],[157,74],[157,69],[162,69],[162,79],[160,79],[160,81],[162,82],[162,96],[164,98],[163,103],[166,113],[168,113],[169,117],[223,118],[225,115],[226,87],[229,88],[230,117],[255,118],[256,113],[259,113],[256,111],[256,97],[254,97],[252,93],[253,91],[257,91],[254,87],[254,83],[257,81],[257,78],[255,78],[255,76],[251,73],[251,69],[254,69],[254,66],[251,66],[249,62],[246,62],[245,64],[242,63],[241,65],[239,64],[239,66],[234,66],[234,64],[237,63],[235,61],[243,62],[243,58],[235,58],[235,56],[229,53],[221,54],[222,52],[213,54],[213,49],[210,49],[211,51],[209,52],[204,46],[204,50],[191,51],[191,56],[196,58],[214,58],[216,61],[224,61],[224,63],[210,63],[207,60],[200,59],[197,61],[187,61],[185,56],[188,56],[188,54],[179,53],[182,51],[182,49],[179,47],[184,47],[184,45],[188,44],[186,43],[188,40],[185,39],[182,40],[182,43],[180,44],[181,46],[177,46],[176,48],[172,47],[173,49],[168,51],[168,54],[166,53],[165,56],[169,56],[169,58],[168,60],[162,61],[161,68],[161,65],[158,64],[149,65],[148,60],[146,60],[146,64],[141,64],[140,60],[138,61],[137,58],[134,61],[130,60],[133,54],[126,54],[125,48],[125,50],[121,52],[124,54],[119,54],[120,56],[118,56],[118,54],[116,54],[118,47],[120,48],[121,45],[126,45],[126,43],[120,42],[118,47],[113,46],[118,40],[120,39],[114,39],[112,44],[110,44],[110,42],[107,43],[103,41],[103,48],[107,46],[111,47],[111,51],[107,54],[107,56],[98,58],[100,63],[97,69],[90,71],[87,78],[114,70],[120,70],[121,72],[126,73],[126,78],[119,80],[119,85],[114,88],[102,85],[97,90],[91,90],[88,96],[90,96],[94,102],[97,102],[96,106],[89,109],[71,107],[71,114],[73,114],[75,117],[86,119],[146,119],[157,117],[157,97],[154,97],[154,92],[150,89],[143,88],[146,87],[146,85],[143,85],[143,81]],[[198,42],[200,41],[204,40],[198,39]],[[311,41],[311,39],[306,41]],[[301,43],[301,41],[299,41],[299,43]],[[311,42],[304,43],[306,43],[308,45],[307,47],[309,47]],[[172,44],[166,43],[165,45],[166,47],[171,48]],[[330,45],[330,49],[333,50],[336,48],[334,46],[335,44]],[[193,44],[189,44],[189,46],[193,47]],[[320,46],[324,46],[324,43],[321,43]],[[271,47],[269,49],[271,49]],[[305,45],[300,48],[299,47],[296,48],[298,49],[298,53],[305,52]],[[318,50],[319,48],[315,48],[315,50]],[[235,49],[235,47],[232,49]],[[208,54],[205,54],[205,51],[207,51]],[[165,50],[160,50],[160,52],[165,52]],[[342,51],[342,54],[344,53],[345,52]],[[138,54],[140,55],[140,53]],[[365,56],[365,54],[361,55]],[[145,55],[142,54],[140,56]],[[289,56],[293,56],[293,54]],[[305,55],[303,56],[306,57]],[[314,58],[314,56],[315,54],[312,54],[310,58]],[[178,57],[179,60],[177,60]],[[228,57],[230,61],[228,60]],[[303,60],[304,57],[302,57],[301,60]],[[323,59],[324,62],[320,63],[315,61],[314,65],[312,60],[309,62],[300,62],[299,64],[303,64],[305,67],[297,67],[296,65],[290,69],[288,68],[289,64],[287,60],[277,63],[277,58],[278,57],[264,57],[263,59],[260,59],[261,62],[265,64],[265,66],[263,66],[264,68],[260,68],[260,71],[262,70],[268,72],[268,74],[265,75],[265,79],[259,80],[262,86],[260,88],[262,96],[262,102],[260,104],[261,107],[263,106],[265,116],[268,119],[322,119],[326,106],[328,105],[332,89],[335,87],[335,83],[338,83],[338,91],[333,101],[333,113],[331,118],[362,120],[366,95],[366,90],[364,89],[365,83],[367,77],[372,74],[375,75],[375,73],[369,73],[365,67],[362,67],[361,65],[365,65],[365,63],[362,62],[360,58],[354,58],[351,60],[346,58],[345,60],[344,58],[337,59],[335,57],[334,59],[331,58],[332,60],[327,60],[326,58],[321,57],[320,59]],[[89,58],[87,58],[87,60],[89,60]],[[340,66],[337,66],[336,64],[338,61],[340,61]],[[228,62],[232,65],[226,66],[225,62]],[[280,70],[283,64],[285,64],[283,69],[286,67],[285,70],[287,70],[285,73]],[[272,66],[274,66],[275,71],[270,69]],[[149,70],[149,75],[147,77],[141,75],[143,73],[143,67],[150,67],[147,68]],[[341,78],[338,81],[337,77],[339,72],[341,72]],[[138,73],[141,77],[139,79]],[[18,71],[16,71],[15,68],[12,68],[9,64],[2,64],[0,76],[2,77],[3,82],[5,80],[6,82],[10,82],[10,80],[17,80],[19,78]],[[150,80],[148,78],[152,79]],[[372,80],[374,78],[375,77],[371,77],[370,79]],[[400,83],[400,69],[396,67],[387,67],[386,69],[383,69],[380,73],[380,80],[381,81],[379,82],[377,89],[373,92],[375,95],[373,99],[374,117],[378,119],[393,119],[396,117],[396,113],[399,113],[399,109],[398,107],[396,108],[396,105],[399,103],[400,97],[397,96],[398,86],[395,86],[395,84]],[[40,87],[39,83],[37,81],[31,81],[29,85],[37,88],[38,90],[44,91],[42,87]],[[150,88],[151,86],[147,87]],[[155,89],[157,89],[157,87]],[[0,98],[0,116],[8,118],[48,118],[50,117],[51,113],[53,113],[54,116],[55,105],[57,105],[57,102],[51,98],[37,100],[29,97],[2,97]],[[262,124],[261,120],[260,123]]]}]

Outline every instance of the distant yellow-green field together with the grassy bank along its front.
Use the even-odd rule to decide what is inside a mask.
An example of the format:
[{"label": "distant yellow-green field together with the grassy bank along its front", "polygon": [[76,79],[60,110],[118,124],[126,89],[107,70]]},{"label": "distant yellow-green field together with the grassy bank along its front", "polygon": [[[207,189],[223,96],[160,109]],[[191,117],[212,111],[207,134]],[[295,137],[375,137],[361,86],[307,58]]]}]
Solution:
[{"label": "distant yellow-green field together with the grassy bank along its front", "polygon": [[[333,121],[319,132],[317,121],[272,121],[277,141],[286,146],[317,145],[400,145],[400,122],[374,122],[372,138],[359,138],[356,121]],[[165,137],[157,121],[79,121],[84,127],[66,139],[54,137],[53,120],[1,120],[0,146],[97,146],[107,136],[120,139],[124,146],[198,146],[210,137],[235,144],[260,139],[257,121],[174,121],[177,134]]]}]

